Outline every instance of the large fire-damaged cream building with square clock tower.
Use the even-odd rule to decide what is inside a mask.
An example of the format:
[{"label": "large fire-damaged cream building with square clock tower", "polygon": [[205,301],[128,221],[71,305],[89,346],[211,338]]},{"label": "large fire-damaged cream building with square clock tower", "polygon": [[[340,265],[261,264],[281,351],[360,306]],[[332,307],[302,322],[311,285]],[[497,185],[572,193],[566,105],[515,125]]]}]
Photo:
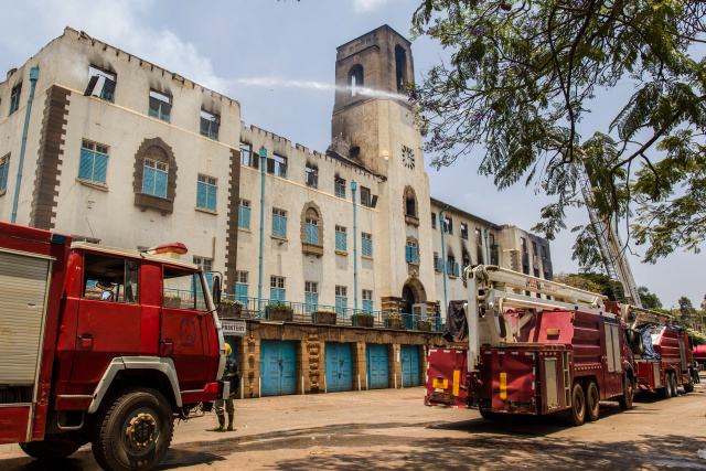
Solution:
[{"label": "large fire-damaged cream building with square clock tower", "polygon": [[[245,303],[247,335],[229,341],[246,396],[419,384],[439,314],[467,297],[463,268],[552,269],[545,239],[430,197],[411,81],[410,43],[389,26],[338,47],[321,153],[66,29],[0,84],[0,220],[126,248],[184,243]],[[271,319],[272,300],[291,320]],[[336,325],[313,322],[325,310]]]}]

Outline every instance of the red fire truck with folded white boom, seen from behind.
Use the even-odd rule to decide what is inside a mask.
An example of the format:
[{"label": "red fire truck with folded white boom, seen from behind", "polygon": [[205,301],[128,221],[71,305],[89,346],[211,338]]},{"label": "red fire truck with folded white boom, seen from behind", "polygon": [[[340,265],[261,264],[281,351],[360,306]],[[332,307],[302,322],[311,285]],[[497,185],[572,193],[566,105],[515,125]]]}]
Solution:
[{"label": "red fire truck with folded white boom, seen from behind", "polygon": [[616,303],[495,266],[467,274],[468,347],[429,351],[426,405],[484,418],[557,414],[574,426],[596,420],[600,400],[632,407],[633,355]]}]

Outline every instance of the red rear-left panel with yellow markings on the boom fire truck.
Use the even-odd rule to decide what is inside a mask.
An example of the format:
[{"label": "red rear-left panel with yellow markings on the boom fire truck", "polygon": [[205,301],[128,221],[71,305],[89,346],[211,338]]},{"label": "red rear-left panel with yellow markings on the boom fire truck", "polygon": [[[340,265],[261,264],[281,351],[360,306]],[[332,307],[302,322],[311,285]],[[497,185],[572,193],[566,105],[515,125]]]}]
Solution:
[{"label": "red rear-left panel with yellow markings on the boom fire truck", "polygon": [[424,404],[467,407],[468,350],[430,349],[427,362],[427,394]]}]

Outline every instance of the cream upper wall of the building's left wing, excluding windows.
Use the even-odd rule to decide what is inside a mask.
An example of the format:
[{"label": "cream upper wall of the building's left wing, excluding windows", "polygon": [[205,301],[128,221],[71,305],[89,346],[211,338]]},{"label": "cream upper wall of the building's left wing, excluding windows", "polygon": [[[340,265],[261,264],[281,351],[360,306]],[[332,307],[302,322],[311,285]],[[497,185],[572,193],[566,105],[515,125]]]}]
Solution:
[{"label": "cream upper wall of the building's left wing, excluding windows", "polygon": [[[117,75],[115,103],[84,96],[92,65]],[[61,87],[69,95],[51,228],[125,248],[181,242],[189,248],[185,259],[191,261],[194,255],[213,258],[213,268],[225,271],[229,180],[233,176],[231,159],[239,142],[239,104],[68,28],[64,35],[52,41],[0,84],[0,115],[6,116],[0,121],[0,157],[11,154],[8,189],[0,195],[0,218],[11,220],[31,67],[39,67],[40,75],[29,126],[17,223],[31,223],[38,156],[42,151],[40,138],[49,105],[46,96],[52,86]],[[20,77],[23,81],[21,109],[7,117],[6,104]],[[172,97],[170,122],[148,116],[150,89]],[[201,109],[221,116],[217,141],[200,135]],[[152,208],[142,211],[135,205],[136,153],[147,139],[154,138],[171,148],[178,168],[171,214]],[[105,185],[77,178],[84,139],[108,148]],[[199,174],[217,179],[215,212],[196,208]]]}]

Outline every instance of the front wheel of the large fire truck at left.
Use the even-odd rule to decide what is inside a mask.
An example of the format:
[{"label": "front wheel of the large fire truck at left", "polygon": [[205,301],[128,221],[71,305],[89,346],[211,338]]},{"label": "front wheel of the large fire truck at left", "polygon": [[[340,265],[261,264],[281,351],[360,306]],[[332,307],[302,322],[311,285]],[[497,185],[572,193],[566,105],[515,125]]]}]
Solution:
[{"label": "front wheel of the large fire truck at left", "polygon": [[105,470],[149,470],[172,440],[174,417],[158,390],[135,387],[113,396],[97,414],[93,453]]}]

